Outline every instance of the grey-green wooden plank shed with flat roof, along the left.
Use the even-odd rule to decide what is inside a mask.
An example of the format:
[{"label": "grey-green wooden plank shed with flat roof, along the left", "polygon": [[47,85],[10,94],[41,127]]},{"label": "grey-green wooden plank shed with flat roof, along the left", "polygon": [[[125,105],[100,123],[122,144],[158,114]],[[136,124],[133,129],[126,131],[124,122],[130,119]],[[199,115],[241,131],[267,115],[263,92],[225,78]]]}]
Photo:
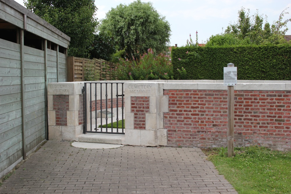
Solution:
[{"label": "grey-green wooden plank shed with flat roof, along the left", "polygon": [[67,81],[70,37],[0,0],[0,177],[48,137],[47,83]]}]

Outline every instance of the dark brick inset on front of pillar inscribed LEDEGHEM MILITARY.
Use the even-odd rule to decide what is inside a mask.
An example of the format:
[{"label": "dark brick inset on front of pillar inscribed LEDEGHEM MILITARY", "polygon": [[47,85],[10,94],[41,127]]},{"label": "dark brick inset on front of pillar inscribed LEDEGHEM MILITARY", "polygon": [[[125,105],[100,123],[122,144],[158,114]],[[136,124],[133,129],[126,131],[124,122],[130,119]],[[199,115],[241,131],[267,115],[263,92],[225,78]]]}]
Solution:
[{"label": "dark brick inset on front of pillar inscribed LEDEGHEM MILITARY", "polygon": [[69,95],[53,95],[53,108],[56,111],[56,125],[67,126]]}]

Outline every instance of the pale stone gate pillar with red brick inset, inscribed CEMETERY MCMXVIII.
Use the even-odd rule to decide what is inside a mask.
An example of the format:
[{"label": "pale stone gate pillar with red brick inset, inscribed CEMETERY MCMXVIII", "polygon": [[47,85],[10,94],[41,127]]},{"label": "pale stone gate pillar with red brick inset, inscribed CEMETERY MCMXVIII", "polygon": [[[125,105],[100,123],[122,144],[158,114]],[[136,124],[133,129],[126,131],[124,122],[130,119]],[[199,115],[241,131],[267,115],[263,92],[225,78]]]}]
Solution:
[{"label": "pale stone gate pillar with red brick inset, inscribed CEMETERY MCMXVIII", "polygon": [[163,112],[168,112],[168,96],[163,83],[133,82],[124,84],[125,145],[167,145]]}]

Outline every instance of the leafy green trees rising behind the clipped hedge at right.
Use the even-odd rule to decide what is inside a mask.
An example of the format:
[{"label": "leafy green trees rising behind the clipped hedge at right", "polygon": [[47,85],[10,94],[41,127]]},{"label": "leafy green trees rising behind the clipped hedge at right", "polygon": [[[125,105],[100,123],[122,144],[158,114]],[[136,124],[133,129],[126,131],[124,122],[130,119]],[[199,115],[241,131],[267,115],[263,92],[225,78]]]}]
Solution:
[{"label": "leafy green trees rising behind the clipped hedge at right", "polygon": [[[283,16],[288,14],[286,9],[280,14],[278,21],[271,26],[267,22],[267,16],[264,18],[258,14],[258,11],[250,16],[249,9],[246,11],[242,8],[238,12],[237,23],[230,24],[222,34],[212,35],[206,45],[276,45],[284,43],[286,42],[284,35],[288,28],[283,29],[283,27],[287,27],[287,23],[291,21],[291,18],[283,20]],[[266,20],[265,24],[264,20]]]}]

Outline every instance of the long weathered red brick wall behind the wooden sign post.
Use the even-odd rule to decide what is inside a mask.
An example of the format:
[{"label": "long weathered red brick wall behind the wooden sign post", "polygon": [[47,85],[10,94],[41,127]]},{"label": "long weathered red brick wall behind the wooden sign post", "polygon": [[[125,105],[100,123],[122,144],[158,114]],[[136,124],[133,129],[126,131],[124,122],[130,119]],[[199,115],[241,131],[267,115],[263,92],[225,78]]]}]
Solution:
[{"label": "long weathered red brick wall behind the wooden sign post", "polygon": [[[168,145],[227,145],[226,90],[164,90]],[[290,91],[235,91],[235,146],[290,150]]]}]

